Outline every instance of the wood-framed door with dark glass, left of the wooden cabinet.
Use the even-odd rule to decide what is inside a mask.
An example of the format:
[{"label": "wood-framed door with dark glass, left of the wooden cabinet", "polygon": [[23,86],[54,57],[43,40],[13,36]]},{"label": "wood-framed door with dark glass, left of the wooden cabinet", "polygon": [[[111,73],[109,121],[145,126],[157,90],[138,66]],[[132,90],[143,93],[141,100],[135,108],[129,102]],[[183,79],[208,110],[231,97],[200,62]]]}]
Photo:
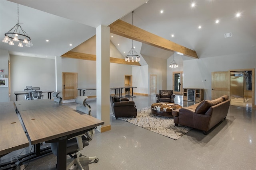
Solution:
[{"label": "wood-framed door with dark glass, left of the wooden cabinet", "polygon": [[183,72],[172,72],[172,90],[174,94],[182,94]]}]

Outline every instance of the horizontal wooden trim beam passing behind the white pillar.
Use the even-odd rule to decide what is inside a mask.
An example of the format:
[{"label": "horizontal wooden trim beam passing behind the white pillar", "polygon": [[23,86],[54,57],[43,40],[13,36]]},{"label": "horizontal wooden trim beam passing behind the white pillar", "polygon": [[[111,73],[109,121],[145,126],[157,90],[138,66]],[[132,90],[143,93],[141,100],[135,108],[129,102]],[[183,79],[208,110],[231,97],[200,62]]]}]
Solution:
[{"label": "horizontal wooden trim beam passing behind the white pillar", "polygon": [[[78,53],[78,52],[74,52],[74,51],[68,51],[61,57],[96,61],[96,55],[86,54],[86,53]],[[118,58],[113,58],[113,57],[110,57],[110,63],[141,66],[139,62],[126,62],[126,61],[124,61],[124,59],[118,59]]]}]

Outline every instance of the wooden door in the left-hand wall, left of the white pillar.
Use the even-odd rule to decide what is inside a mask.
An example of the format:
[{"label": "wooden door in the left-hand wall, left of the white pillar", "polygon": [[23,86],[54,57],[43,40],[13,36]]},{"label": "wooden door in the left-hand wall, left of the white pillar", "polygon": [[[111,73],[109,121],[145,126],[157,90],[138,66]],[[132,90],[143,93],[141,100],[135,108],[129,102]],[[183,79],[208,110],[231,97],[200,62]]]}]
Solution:
[{"label": "wooden door in the left-hand wall, left of the white pillar", "polygon": [[77,96],[77,73],[62,72],[63,100],[75,99]]}]

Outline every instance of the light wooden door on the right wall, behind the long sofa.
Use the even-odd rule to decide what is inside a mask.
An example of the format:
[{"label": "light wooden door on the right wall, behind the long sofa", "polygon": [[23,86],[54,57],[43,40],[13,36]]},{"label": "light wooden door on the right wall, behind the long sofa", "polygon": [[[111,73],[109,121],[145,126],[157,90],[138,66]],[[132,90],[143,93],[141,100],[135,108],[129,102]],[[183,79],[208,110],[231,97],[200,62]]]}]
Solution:
[{"label": "light wooden door on the right wall, behind the long sofa", "polygon": [[212,72],[212,100],[225,94],[230,96],[230,71]]}]

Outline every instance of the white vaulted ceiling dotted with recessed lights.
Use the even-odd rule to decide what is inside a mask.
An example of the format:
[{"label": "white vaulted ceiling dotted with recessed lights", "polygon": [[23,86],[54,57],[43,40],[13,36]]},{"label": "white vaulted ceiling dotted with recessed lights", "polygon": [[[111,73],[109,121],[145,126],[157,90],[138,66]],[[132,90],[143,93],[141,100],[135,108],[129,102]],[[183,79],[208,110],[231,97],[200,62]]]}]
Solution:
[{"label": "white vaulted ceiling dotted with recessed lights", "polygon": [[[15,2],[15,3],[13,3]],[[0,0],[1,49],[10,54],[60,56],[96,34],[96,27],[121,19],[160,37],[195,50],[199,58],[235,53],[256,54],[256,0]],[[19,22],[32,47],[3,43],[4,33]],[[163,13],[160,13],[163,10]],[[239,18],[235,17],[240,12]],[[218,24],[215,20],[220,20]],[[202,28],[198,29],[201,25]],[[232,37],[224,38],[224,33]],[[174,37],[171,35],[174,34]],[[132,40],[110,40],[125,56]],[[49,39],[49,42],[46,42]],[[69,44],[72,43],[72,46]],[[118,45],[119,44],[119,45]],[[172,53],[134,41],[142,55],[168,58]],[[176,57],[176,55],[175,55]]]}]

